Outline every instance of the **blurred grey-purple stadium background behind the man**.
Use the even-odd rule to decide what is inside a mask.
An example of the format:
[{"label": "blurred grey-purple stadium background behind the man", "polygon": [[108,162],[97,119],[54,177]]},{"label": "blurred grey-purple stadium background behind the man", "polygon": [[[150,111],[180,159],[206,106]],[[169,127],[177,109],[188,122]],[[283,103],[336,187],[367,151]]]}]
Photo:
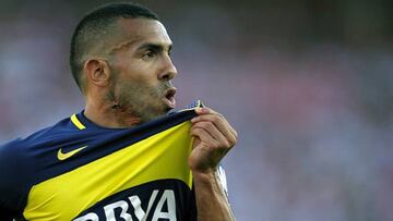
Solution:
[{"label": "blurred grey-purple stadium background behind the man", "polygon": [[[0,1],[0,143],[81,110],[70,36],[103,2]],[[392,1],[143,3],[175,42],[178,107],[200,98],[240,134],[238,220],[393,220]]]}]

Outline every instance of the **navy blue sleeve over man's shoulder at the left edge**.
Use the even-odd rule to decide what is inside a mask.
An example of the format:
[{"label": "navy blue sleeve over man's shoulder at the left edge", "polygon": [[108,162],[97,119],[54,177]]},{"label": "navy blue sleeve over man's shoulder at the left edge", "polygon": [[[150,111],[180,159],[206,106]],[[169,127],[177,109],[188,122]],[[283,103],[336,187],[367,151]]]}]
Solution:
[{"label": "navy blue sleeve over man's shoulder at the left edge", "polygon": [[68,122],[62,120],[25,138],[0,144],[0,210],[19,211],[24,207],[39,172],[45,144],[56,139]]}]

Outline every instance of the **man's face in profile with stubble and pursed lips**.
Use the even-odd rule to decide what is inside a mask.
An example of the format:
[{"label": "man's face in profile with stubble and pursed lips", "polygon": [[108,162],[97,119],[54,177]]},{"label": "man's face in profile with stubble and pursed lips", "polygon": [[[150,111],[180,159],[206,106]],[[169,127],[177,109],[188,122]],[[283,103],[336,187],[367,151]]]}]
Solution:
[{"label": "man's face in profile with stubble and pursed lips", "polygon": [[109,60],[112,84],[108,96],[141,123],[151,121],[176,105],[171,40],[155,20],[122,19],[118,24],[121,39]]}]

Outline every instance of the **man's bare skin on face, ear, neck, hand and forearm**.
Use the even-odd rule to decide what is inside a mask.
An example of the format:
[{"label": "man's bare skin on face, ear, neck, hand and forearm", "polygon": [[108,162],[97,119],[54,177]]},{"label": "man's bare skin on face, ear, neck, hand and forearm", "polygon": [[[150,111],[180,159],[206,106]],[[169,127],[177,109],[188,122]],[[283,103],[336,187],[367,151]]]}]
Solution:
[{"label": "man's bare skin on face, ear, neck, hand and forearm", "polygon": [[[85,115],[105,127],[126,128],[166,114],[172,107],[165,91],[177,75],[170,59],[171,40],[162,23],[119,19],[108,51],[88,54],[83,67]],[[92,50],[94,51],[94,50]],[[217,165],[237,143],[237,133],[218,112],[200,108],[191,120],[198,220],[235,220]]]}]

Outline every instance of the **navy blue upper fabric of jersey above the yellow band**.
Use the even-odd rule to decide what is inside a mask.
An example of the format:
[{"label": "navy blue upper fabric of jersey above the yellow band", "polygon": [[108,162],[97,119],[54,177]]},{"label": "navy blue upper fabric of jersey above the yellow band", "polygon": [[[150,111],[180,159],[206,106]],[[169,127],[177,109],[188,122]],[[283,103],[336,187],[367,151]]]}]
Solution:
[{"label": "navy blue upper fabric of jersey above the yellow band", "polygon": [[[105,157],[195,115],[194,110],[179,111],[132,128],[117,130],[95,125],[82,111],[76,118],[86,126],[85,130],[79,130],[68,118],[24,139],[19,138],[0,146],[0,220],[12,220],[12,214],[22,213],[29,189],[35,184]],[[58,160],[57,152],[60,148],[67,152],[82,146],[87,147],[78,152],[80,157]]]}]

